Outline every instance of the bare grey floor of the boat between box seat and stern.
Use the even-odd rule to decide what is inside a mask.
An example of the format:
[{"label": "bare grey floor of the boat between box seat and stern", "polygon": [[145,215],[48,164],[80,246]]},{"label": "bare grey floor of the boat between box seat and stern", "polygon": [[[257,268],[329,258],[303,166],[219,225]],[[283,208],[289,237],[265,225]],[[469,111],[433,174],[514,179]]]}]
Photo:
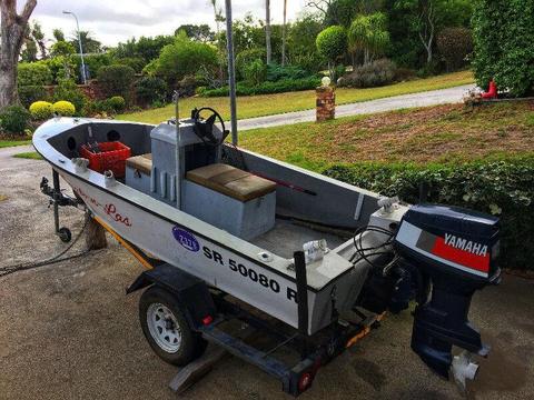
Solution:
[{"label": "bare grey floor of the boat between box seat and stern", "polygon": [[303,249],[304,243],[320,239],[326,239],[328,248],[335,249],[344,243],[347,237],[316,230],[298,220],[277,218],[271,230],[254,238],[250,242],[274,254],[290,259],[295,251]]}]

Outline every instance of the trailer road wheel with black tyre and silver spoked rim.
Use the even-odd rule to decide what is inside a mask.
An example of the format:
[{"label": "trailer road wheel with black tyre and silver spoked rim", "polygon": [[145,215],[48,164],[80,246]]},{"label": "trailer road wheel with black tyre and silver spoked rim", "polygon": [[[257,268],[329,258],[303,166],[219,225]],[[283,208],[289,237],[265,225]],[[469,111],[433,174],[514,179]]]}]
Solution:
[{"label": "trailer road wheel with black tyre and silver spoked rim", "polygon": [[142,293],[139,321],[152,350],[168,363],[185,366],[206,350],[206,340],[191,330],[175,296],[158,286]]}]

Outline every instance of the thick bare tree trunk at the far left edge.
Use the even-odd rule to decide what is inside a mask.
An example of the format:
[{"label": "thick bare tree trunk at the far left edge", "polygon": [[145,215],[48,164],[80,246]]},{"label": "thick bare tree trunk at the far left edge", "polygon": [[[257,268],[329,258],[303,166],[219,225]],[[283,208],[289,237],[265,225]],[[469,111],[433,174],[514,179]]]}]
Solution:
[{"label": "thick bare tree trunk at the far left edge", "polygon": [[0,0],[0,110],[19,102],[17,63],[36,4],[37,0],[28,0],[19,16],[16,0]]}]

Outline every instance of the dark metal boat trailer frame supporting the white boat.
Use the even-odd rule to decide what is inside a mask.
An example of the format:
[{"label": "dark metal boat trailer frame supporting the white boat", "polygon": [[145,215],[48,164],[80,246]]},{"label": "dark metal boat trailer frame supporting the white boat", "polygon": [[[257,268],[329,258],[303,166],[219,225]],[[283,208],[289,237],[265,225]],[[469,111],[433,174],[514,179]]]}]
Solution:
[{"label": "dark metal boat trailer frame supporting the white boat", "polygon": [[[93,219],[147,269],[126,290],[127,294],[149,286],[161,287],[174,293],[176,299],[179,299],[181,309],[187,310],[190,329],[198,332],[207,343],[217,347],[217,350],[206,352],[201,358],[180,369],[169,384],[177,393],[184,392],[209,372],[225,352],[228,352],[278,379],[283,391],[297,397],[312,387],[320,367],[378,328],[385,316],[385,312],[367,316],[358,311],[356,320],[339,320],[338,324],[329,327],[328,330],[320,332],[320,336],[309,337],[306,332],[307,299],[300,294],[306,293],[306,264],[304,252],[297,251],[294,256],[299,327],[297,330],[284,331],[280,324],[273,323],[273,319],[267,320],[250,311],[250,307],[229,300],[228,294],[209,289],[200,279],[151,259],[135,244],[121,238],[100,218]],[[221,328],[236,322],[237,332],[228,332]],[[267,349],[259,349],[250,343],[250,339],[257,339],[258,333],[263,339],[270,340]],[[297,350],[297,354],[294,354],[296,360],[294,358],[293,362],[276,357],[277,352],[288,349]]]}]

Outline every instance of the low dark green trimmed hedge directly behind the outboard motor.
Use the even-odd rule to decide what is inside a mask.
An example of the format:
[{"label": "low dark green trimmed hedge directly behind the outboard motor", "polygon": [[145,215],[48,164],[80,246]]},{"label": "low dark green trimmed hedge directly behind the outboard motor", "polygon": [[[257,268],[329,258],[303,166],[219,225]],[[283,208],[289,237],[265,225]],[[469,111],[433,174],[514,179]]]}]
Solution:
[{"label": "low dark green trimmed hedge directly behind the outboard motor", "polygon": [[534,156],[475,161],[461,166],[399,166],[362,163],[334,166],[328,177],[419,202],[419,188],[428,202],[459,206],[501,218],[501,264],[534,270]]}]

